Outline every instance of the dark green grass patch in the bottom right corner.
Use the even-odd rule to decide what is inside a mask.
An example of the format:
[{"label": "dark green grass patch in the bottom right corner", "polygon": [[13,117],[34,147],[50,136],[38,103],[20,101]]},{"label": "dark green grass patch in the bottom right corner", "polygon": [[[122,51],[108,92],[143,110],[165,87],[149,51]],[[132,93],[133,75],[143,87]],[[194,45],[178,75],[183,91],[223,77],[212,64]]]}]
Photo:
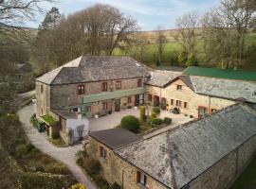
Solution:
[{"label": "dark green grass patch in the bottom right corner", "polygon": [[256,157],[248,164],[246,170],[230,187],[230,189],[252,188],[256,188]]}]

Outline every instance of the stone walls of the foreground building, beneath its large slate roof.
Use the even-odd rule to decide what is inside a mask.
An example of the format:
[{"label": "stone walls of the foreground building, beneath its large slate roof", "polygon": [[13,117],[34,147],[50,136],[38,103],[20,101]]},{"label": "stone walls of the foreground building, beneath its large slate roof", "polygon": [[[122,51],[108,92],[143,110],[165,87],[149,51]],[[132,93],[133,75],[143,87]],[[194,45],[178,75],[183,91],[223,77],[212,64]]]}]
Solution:
[{"label": "stone walls of the foreground building, beneath its large slate roof", "polygon": [[[100,157],[100,146],[107,149],[107,159]],[[109,182],[118,182],[124,189],[141,189],[137,183],[137,167],[122,160],[109,147],[102,145],[92,137],[89,137],[89,146],[86,147],[89,156],[101,163],[101,176]],[[214,164],[202,175],[192,180],[188,185],[190,189],[226,189],[237,176],[246,168],[256,152],[256,136],[249,139],[245,144],[230,152],[225,158]],[[162,183],[149,178],[150,189],[167,189]],[[182,187],[182,186],[180,186]],[[143,188],[143,187],[142,187]]]}]

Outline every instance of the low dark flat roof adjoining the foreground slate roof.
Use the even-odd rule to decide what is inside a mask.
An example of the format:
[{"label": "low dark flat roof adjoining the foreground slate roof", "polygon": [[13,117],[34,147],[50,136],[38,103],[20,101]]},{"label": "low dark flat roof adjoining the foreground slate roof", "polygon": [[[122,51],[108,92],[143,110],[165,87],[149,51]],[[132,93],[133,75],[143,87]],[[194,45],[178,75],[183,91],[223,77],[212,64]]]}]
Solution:
[{"label": "low dark flat roof adjoining the foreground slate roof", "polygon": [[90,132],[89,135],[111,149],[118,149],[141,139],[137,134],[120,128],[94,131]]}]

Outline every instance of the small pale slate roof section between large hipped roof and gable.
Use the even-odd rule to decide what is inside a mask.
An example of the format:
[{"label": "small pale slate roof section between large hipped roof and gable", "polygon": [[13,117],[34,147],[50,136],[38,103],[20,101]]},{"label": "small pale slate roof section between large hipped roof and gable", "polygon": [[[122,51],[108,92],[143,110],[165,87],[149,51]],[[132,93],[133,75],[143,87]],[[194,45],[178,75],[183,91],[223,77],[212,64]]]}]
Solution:
[{"label": "small pale slate roof section between large hipped roof and gable", "polygon": [[164,87],[167,83],[179,75],[181,75],[181,72],[155,70],[151,72],[151,78],[146,82],[146,84]]}]

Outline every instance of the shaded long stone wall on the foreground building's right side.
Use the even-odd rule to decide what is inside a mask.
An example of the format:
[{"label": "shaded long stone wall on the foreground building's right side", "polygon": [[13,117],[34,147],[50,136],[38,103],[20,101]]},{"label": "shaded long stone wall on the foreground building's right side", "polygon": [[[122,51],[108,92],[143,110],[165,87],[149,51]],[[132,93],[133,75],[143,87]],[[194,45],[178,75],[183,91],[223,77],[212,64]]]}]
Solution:
[{"label": "shaded long stone wall on the foreground building's right side", "polygon": [[226,189],[242,173],[256,152],[256,136],[229,153],[201,176],[192,180],[190,189]]}]

